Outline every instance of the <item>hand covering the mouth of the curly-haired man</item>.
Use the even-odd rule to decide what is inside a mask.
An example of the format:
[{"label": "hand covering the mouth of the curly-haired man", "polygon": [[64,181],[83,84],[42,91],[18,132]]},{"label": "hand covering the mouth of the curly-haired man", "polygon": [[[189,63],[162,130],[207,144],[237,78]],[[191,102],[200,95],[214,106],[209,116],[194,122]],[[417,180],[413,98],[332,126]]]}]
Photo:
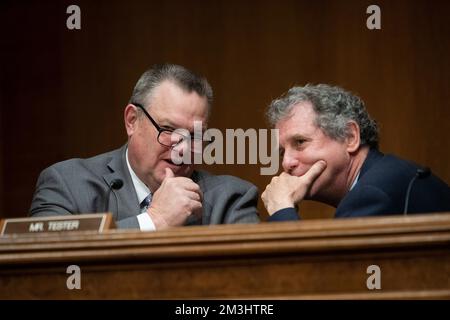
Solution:
[{"label": "hand covering the mouth of the curly-haired man", "polygon": [[267,212],[272,215],[278,210],[299,204],[325,168],[325,161],[320,160],[300,177],[291,176],[286,172],[273,177],[261,195]]}]

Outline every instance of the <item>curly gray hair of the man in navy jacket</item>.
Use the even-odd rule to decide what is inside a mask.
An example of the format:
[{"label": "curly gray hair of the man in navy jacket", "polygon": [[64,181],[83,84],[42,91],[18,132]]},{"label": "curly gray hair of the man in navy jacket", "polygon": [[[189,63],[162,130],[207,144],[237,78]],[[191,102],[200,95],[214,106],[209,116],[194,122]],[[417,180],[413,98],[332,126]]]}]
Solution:
[{"label": "curly gray hair of the man in navy jacket", "polygon": [[347,136],[348,122],[355,121],[360,128],[361,145],[378,149],[378,126],[369,116],[364,102],[351,92],[326,84],[293,87],[275,99],[267,110],[267,118],[275,126],[289,117],[292,108],[300,102],[310,102],[316,112],[316,125],[332,139]]}]

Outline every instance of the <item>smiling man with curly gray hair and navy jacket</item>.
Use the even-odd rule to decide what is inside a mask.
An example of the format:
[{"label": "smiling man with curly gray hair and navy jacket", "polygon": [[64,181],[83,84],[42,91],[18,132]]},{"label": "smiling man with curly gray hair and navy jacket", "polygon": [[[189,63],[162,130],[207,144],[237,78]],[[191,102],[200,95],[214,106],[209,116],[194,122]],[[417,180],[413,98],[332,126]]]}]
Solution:
[{"label": "smiling man with curly gray hair and navy jacket", "polygon": [[298,219],[303,199],[336,207],[335,217],[450,211],[445,182],[378,150],[377,124],[352,93],[293,87],[272,101],[267,117],[279,129],[284,169],[261,196],[269,221]]}]

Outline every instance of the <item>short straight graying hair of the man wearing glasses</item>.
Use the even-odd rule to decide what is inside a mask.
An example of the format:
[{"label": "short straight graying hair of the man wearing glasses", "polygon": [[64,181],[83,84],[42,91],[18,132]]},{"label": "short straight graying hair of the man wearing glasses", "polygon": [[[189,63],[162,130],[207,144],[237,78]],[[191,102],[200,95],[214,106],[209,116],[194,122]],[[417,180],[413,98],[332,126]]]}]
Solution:
[{"label": "short straight graying hair of the man wearing glasses", "polygon": [[163,81],[169,80],[187,92],[196,92],[206,97],[208,107],[211,108],[213,91],[206,80],[185,67],[176,64],[157,64],[144,72],[134,87],[129,103],[146,105],[151,99],[153,90]]}]

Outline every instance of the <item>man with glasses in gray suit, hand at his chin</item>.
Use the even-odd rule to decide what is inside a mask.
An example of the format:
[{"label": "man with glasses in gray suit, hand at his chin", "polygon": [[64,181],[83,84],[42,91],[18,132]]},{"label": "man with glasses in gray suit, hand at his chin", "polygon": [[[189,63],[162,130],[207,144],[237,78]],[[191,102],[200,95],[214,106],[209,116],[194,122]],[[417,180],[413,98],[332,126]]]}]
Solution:
[{"label": "man with glasses in gray suit, hand at his chin", "polygon": [[[125,108],[128,143],[90,159],[45,169],[33,216],[103,212],[121,228],[161,230],[187,224],[258,222],[257,189],[231,176],[195,171],[179,160],[201,151],[212,102],[207,80],[177,65],[158,65],[137,82]],[[123,185],[123,186],[122,186]]]}]

